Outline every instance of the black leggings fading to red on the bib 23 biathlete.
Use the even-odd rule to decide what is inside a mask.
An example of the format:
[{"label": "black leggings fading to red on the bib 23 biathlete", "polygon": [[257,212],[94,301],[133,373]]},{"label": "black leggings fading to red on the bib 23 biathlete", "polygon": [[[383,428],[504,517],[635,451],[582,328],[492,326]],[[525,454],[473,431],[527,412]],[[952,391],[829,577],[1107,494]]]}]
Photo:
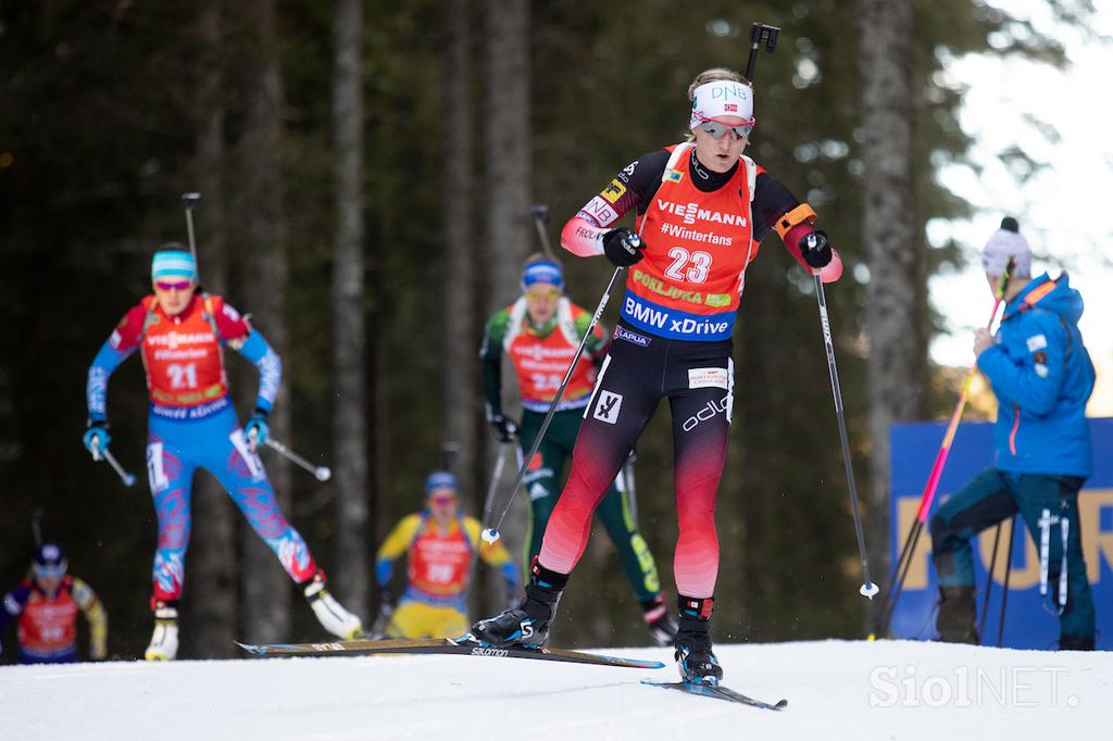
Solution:
[{"label": "black leggings fading to red on the bib 23 biathlete", "polygon": [[664,339],[619,325],[584,411],[568,483],[545,530],[540,562],[546,569],[571,573],[588,545],[595,506],[667,397],[680,526],[677,591],[689,597],[713,594],[719,571],[715,498],[733,403],[731,349],[729,339]]}]

